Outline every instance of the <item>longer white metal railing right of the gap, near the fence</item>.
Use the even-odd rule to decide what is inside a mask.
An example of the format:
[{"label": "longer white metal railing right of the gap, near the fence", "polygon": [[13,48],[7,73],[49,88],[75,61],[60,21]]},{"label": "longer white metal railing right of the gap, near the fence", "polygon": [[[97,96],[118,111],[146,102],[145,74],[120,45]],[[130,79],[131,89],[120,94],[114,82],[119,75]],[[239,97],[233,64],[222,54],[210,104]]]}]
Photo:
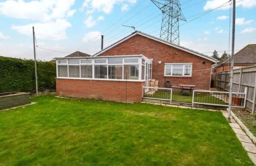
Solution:
[{"label": "longer white metal railing right of the gap, near the fence", "polygon": [[[192,106],[203,104],[211,106],[228,107],[229,92],[194,90]],[[247,88],[245,92],[232,92],[232,107],[245,108],[247,99]]]}]

